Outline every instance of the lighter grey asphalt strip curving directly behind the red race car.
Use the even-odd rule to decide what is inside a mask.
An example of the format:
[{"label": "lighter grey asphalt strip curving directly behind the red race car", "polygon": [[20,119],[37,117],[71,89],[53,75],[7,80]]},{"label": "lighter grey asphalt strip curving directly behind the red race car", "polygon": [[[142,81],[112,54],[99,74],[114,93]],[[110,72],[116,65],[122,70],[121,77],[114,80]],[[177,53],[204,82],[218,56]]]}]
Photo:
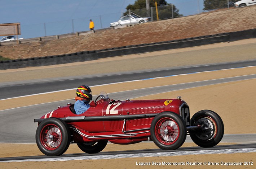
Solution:
[{"label": "lighter grey asphalt strip curving directly behind the red race car", "polygon": [[[153,88],[145,88],[138,90],[129,90],[116,93],[109,93],[112,99],[124,100],[126,98],[132,99],[149,94],[157,94],[173,90],[187,89],[191,87],[206,86],[212,84],[219,84],[231,81],[255,79],[255,75],[237,76],[233,78],[223,78],[216,80],[198,81],[192,83],[158,86]],[[93,96],[93,99],[97,95]],[[44,103],[30,105],[26,107],[13,108],[0,111],[0,142],[13,143],[35,143],[35,132],[37,123],[33,123],[35,118],[40,118],[44,114],[57,109],[58,105],[66,105],[66,103],[75,103],[74,99],[64,100],[59,102]],[[36,110],[36,111],[35,111]],[[11,127],[10,127],[11,126]],[[13,139],[15,136],[15,140]],[[255,135],[256,136],[256,135]],[[245,137],[244,137],[245,139]],[[256,137],[254,138],[256,140]],[[247,139],[246,139],[247,140]],[[245,140],[243,140],[245,141]]]}]

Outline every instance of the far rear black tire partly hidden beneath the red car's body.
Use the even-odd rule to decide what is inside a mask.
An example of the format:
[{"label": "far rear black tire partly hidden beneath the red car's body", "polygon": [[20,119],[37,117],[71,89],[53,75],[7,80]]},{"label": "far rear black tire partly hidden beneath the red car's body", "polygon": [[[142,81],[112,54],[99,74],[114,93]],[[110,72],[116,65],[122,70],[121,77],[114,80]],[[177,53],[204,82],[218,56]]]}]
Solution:
[{"label": "far rear black tire partly hidden beneath the red car's body", "polygon": [[107,140],[101,140],[97,142],[83,142],[77,144],[79,149],[82,151],[88,153],[88,154],[94,154],[101,152],[107,145]]}]

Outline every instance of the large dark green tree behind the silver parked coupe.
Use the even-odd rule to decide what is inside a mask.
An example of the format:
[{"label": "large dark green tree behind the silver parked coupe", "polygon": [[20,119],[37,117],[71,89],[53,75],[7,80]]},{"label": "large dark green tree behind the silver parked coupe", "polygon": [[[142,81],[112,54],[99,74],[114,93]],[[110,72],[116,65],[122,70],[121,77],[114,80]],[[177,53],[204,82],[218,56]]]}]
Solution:
[{"label": "large dark green tree behind the silver parked coupe", "polygon": [[[172,18],[172,5],[168,4],[165,0],[149,0],[149,6],[153,7],[153,16],[155,18],[156,16],[156,9],[155,9],[155,1],[157,3],[158,7],[158,15],[159,19],[166,19],[166,18]],[[139,15],[140,17],[147,17],[147,11],[146,11],[146,0],[136,0],[134,4],[129,4],[126,7],[126,10],[123,13],[123,16],[127,15],[129,13],[129,10],[131,10],[132,13],[135,13],[136,15]],[[151,15],[151,14],[150,14]],[[179,10],[176,8],[175,5],[173,5],[173,17],[178,18],[182,17],[182,14],[179,14]]]}]

